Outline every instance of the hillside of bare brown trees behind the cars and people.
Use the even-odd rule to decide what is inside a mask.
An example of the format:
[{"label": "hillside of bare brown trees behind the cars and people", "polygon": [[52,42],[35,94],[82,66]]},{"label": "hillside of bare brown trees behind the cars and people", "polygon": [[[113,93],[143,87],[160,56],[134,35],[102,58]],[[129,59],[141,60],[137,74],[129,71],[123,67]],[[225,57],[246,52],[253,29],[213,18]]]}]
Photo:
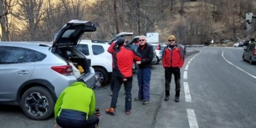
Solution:
[{"label": "hillside of bare brown trees behind the cars and people", "polygon": [[176,35],[183,44],[255,38],[255,0],[1,0],[0,40],[51,41],[72,19],[96,22],[83,38],[109,40],[122,31],[134,35],[159,32],[160,42]]}]

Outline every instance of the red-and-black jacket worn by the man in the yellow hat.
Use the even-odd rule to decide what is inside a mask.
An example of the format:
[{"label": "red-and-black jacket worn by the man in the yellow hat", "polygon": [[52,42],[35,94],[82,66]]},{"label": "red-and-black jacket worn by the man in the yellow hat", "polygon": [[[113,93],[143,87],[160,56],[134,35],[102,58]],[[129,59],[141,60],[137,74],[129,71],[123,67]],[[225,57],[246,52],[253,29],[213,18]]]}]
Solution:
[{"label": "red-and-black jacket worn by the man in the yellow hat", "polygon": [[179,67],[184,64],[184,52],[180,45],[167,45],[163,50],[163,67]]}]

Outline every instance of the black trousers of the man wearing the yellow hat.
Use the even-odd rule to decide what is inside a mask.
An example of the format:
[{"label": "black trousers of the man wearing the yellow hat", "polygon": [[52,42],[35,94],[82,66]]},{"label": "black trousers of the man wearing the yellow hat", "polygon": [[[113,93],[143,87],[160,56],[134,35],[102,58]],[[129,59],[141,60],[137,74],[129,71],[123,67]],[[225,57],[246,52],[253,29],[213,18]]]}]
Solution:
[{"label": "black trousers of the man wearing the yellow hat", "polygon": [[164,68],[165,77],[165,95],[170,96],[170,84],[172,81],[172,74],[175,80],[175,97],[180,96],[180,68],[178,67],[166,67]]}]

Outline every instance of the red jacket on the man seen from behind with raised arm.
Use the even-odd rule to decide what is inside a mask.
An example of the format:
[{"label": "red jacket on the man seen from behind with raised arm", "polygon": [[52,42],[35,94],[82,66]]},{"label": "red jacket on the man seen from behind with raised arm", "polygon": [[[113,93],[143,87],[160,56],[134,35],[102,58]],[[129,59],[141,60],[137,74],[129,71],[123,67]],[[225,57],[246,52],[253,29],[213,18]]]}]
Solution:
[{"label": "red jacket on the man seen from behind with raised arm", "polygon": [[133,61],[141,61],[140,54],[132,51],[127,47],[120,47],[113,54],[113,61],[115,68],[117,69],[117,76],[120,79],[124,79],[126,77],[132,77],[132,65]]}]

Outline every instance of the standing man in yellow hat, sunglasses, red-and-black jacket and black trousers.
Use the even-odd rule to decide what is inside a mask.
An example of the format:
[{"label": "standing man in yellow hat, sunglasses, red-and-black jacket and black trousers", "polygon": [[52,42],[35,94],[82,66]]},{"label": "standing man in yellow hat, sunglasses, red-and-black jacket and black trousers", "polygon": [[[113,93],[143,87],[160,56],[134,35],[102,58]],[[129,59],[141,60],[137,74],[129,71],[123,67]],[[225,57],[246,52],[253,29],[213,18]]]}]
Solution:
[{"label": "standing man in yellow hat, sunglasses, red-and-black jacket and black trousers", "polygon": [[184,52],[179,44],[175,44],[175,36],[168,37],[168,45],[163,50],[163,67],[165,77],[165,98],[168,101],[170,97],[170,83],[172,74],[175,79],[175,102],[179,102],[180,96],[180,68],[184,64]]}]

